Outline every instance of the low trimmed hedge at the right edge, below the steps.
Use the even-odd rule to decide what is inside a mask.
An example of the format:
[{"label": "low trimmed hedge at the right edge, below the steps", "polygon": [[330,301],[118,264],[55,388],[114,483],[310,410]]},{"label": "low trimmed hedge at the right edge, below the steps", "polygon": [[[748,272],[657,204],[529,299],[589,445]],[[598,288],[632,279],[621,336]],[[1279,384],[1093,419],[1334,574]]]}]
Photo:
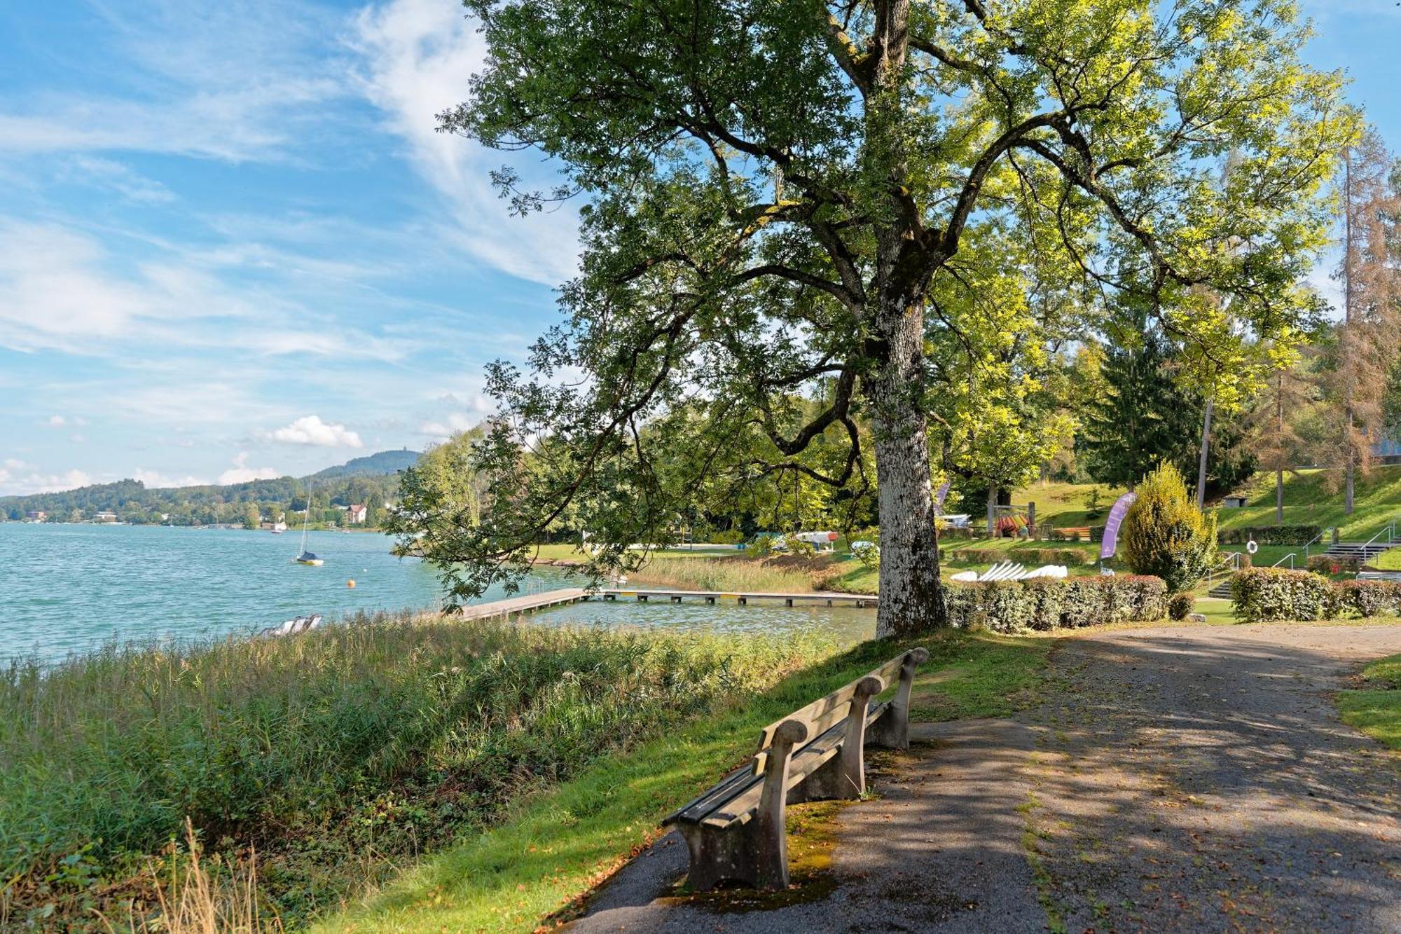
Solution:
[{"label": "low trimmed hedge at the right edge, below the steps", "polygon": [[1331,620],[1401,613],[1401,583],[1330,581],[1309,571],[1251,568],[1231,578],[1236,616],[1247,623]]}]

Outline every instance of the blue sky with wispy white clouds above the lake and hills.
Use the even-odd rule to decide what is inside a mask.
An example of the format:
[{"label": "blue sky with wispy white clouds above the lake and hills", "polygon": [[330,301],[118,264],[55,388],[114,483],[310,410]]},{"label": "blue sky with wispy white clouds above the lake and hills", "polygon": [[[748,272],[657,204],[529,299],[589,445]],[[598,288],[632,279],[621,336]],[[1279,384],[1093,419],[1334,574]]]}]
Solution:
[{"label": "blue sky with wispy white clouds above the lake and hills", "polygon": [[[1401,7],[1303,7],[1401,147]],[[455,0],[0,6],[0,495],[304,474],[481,419],[576,255],[570,210],[510,217],[506,157],[434,132],[481,55]]]}]

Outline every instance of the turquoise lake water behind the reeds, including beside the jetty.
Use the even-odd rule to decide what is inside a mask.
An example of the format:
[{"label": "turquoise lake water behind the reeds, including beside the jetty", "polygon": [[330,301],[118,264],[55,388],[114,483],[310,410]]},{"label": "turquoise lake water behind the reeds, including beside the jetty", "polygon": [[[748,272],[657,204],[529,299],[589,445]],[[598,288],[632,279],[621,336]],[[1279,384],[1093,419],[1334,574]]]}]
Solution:
[{"label": "turquoise lake water behind the reeds, including beside the jetty", "polygon": [[[0,658],[55,661],[109,641],[252,634],[312,611],[329,621],[357,610],[440,604],[433,571],[391,555],[384,536],[312,532],[307,548],[325,558],[319,568],[293,564],[300,543],[293,532],[0,523]],[[537,576],[528,589],[566,585],[552,569]],[[818,628],[843,639],[869,638],[876,628],[871,610],[759,603],[591,600],[532,618],[750,632]]]}]

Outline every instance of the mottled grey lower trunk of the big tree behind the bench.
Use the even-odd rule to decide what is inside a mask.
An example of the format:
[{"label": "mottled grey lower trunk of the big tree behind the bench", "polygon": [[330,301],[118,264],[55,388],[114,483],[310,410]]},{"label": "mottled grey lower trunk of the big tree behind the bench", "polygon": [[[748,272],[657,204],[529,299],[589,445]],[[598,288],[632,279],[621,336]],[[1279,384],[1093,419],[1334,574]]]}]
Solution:
[{"label": "mottled grey lower trunk of the big tree behind the bench", "polygon": [[880,609],[876,635],[904,635],[944,624],[939,592],[934,491],[923,402],[923,313],[901,307],[878,316],[884,363],[867,383],[876,440],[880,506]]}]

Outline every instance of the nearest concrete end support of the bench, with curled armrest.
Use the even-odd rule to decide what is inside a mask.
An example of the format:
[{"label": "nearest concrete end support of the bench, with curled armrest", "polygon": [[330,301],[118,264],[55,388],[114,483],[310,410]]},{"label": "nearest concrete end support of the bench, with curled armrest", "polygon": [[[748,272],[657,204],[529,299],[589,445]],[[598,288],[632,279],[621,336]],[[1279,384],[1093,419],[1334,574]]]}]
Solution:
[{"label": "nearest concrete end support of the bench, with curled armrest", "polygon": [[724,881],[744,882],[755,889],[787,888],[786,795],[793,743],[807,739],[807,726],[787,721],[773,735],[758,812],[747,823],[710,827],[682,823],[681,833],[691,851],[686,885],[705,892]]}]

